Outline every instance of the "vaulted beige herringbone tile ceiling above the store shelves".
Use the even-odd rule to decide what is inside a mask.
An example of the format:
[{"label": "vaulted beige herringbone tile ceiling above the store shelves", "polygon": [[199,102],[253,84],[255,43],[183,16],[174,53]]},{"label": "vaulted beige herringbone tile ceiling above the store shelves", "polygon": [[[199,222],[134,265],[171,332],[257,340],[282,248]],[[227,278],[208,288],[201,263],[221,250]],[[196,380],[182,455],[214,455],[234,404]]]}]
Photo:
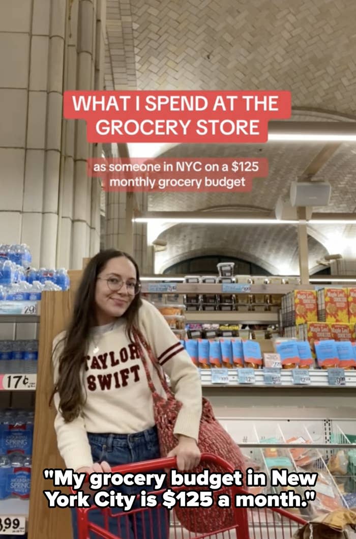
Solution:
[{"label": "vaulted beige herringbone tile ceiling above the store shelves", "polygon": [[[354,120],[355,20],[353,0],[107,0],[106,89],[287,89],[292,92],[293,120]],[[151,195],[149,209],[233,205],[271,210],[322,147],[303,142],[182,144],[165,155],[264,156],[269,177],[256,180],[246,194]],[[356,145],[341,144],[315,176],[333,187],[330,206],[317,211],[355,210],[355,169]],[[287,237],[277,229],[263,227],[252,236],[242,229],[234,232],[234,251],[250,258],[259,253],[266,261],[289,257],[295,234],[289,231]],[[205,227],[204,235],[191,232],[173,227],[164,233],[169,236],[167,257],[222,245],[215,227]],[[278,254],[271,238],[281,245],[282,237],[284,247]],[[224,245],[227,252],[232,249],[231,241]],[[311,259],[325,252],[315,239],[310,248]]]}]

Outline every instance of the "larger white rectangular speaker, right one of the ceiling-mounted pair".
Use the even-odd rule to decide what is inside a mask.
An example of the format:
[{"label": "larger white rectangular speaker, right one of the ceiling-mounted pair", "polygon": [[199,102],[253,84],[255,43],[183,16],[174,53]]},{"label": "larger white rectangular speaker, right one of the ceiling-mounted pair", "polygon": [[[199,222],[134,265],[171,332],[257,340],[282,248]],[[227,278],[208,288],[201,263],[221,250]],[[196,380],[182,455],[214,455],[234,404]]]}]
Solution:
[{"label": "larger white rectangular speaker, right one of the ceiling-mounted pair", "polygon": [[292,182],[290,184],[292,206],[327,206],[330,196],[329,182]]}]

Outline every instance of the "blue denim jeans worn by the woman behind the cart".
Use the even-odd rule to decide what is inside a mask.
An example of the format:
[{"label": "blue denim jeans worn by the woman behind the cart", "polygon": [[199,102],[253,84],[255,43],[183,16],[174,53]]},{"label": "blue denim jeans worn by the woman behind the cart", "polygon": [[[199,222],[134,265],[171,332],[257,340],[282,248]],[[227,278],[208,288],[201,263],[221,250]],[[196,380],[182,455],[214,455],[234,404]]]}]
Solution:
[{"label": "blue denim jeans worn by the woman behind the cart", "polygon": [[[111,467],[158,459],[160,457],[157,430],[155,427],[135,434],[92,434],[88,433],[92,457],[94,462],[106,460]],[[164,473],[157,470],[156,473]],[[165,488],[165,484],[162,488]],[[125,486],[107,487],[122,494],[139,494],[141,490],[154,492],[154,487]],[[139,507],[138,500],[134,508]],[[103,514],[107,511],[117,515],[109,517],[108,526],[104,524]],[[169,512],[164,507],[141,509],[135,514],[124,513],[122,509],[90,509],[89,521],[101,528],[110,531],[114,537],[120,539],[168,539],[169,538]],[[76,510],[72,509],[73,539],[78,539],[78,526]],[[101,539],[94,531],[90,531],[85,539]]]}]

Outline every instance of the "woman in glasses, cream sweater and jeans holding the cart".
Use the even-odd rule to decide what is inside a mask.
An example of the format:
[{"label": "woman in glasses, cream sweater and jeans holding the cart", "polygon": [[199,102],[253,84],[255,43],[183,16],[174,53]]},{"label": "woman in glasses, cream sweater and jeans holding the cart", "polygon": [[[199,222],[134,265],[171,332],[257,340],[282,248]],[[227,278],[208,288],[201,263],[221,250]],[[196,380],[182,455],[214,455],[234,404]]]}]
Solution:
[{"label": "woman in glasses, cream sweater and jeans holding the cart", "polygon": [[[164,317],[141,299],[140,290],[138,267],[128,254],[115,250],[96,254],[83,272],[68,330],[53,342],[54,427],[66,467],[76,472],[110,472],[112,466],[160,457],[152,395],[134,328],[149,343],[182,402],[174,426],[177,446],[168,456],[177,457],[180,471],[199,464],[198,371]],[[147,363],[153,383],[164,395],[149,358]],[[132,487],[127,489],[134,493]],[[111,533],[123,539],[165,539],[165,509],[155,509],[153,525],[150,511],[141,518],[125,514],[110,519]],[[100,510],[89,513],[90,521],[102,526]],[[76,538],[76,519],[73,529]]]}]

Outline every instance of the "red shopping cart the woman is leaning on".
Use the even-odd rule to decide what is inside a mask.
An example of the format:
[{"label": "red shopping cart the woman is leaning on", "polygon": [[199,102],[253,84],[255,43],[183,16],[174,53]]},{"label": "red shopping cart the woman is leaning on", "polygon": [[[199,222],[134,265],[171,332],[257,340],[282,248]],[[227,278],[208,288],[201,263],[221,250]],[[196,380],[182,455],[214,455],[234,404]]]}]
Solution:
[{"label": "red shopping cart the woman is leaning on", "polygon": [[[227,473],[234,472],[228,462],[215,455],[204,453],[201,455],[201,462],[206,463],[207,468],[209,464],[215,464],[225,469]],[[112,469],[112,472],[146,474],[174,467],[176,467],[176,458],[173,457],[117,466]],[[146,487],[142,488],[146,489]],[[184,486],[170,488],[174,492],[187,490]],[[152,490],[152,493],[154,492],[158,497],[164,490],[166,489]],[[214,492],[219,493],[219,491]],[[223,487],[221,492],[228,493],[231,500],[235,499],[235,494],[248,494],[246,490],[236,486]],[[139,506],[139,503],[136,505]],[[93,511],[96,515],[99,514],[99,519],[97,516],[95,519],[90,518],[94,516]],[[79,508],[77,509],[78,539],[290,539],[296,530],[306,524],[306,521],[300,517],[283,509],[234,508],[232,511],[231,526],[216,529],[208,534],[197,534],[182,526],[174,515],[174,509],[162,509],[160,505],[155,508],[134,507],[129,512],[121,510],[120,513],[117,513],[117,509],[98,509],[96,506]]]}]

